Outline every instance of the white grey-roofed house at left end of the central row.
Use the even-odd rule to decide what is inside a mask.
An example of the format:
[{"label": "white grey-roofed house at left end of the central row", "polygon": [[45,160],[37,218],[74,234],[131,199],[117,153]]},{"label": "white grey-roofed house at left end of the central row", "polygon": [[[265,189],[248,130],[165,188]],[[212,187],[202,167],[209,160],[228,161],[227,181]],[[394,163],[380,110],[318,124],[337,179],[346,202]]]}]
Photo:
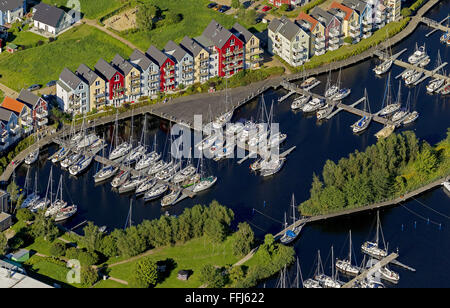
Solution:
[{"label": "white grey-roofed house at left end of the central row", "polygon": [[82,114],[90,110],[89,85],[68,68],[59,75],[56,96],[64,112]]}]

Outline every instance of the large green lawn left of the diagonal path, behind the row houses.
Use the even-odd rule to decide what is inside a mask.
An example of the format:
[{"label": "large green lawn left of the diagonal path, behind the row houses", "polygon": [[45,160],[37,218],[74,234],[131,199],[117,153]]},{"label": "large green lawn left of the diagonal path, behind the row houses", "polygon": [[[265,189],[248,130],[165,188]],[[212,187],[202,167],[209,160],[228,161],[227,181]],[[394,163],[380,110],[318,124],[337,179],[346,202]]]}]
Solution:
[{"label": "large green lawn left of the diagonal path, behind the row houses", "polygon": [[0,82],[19,91],[31,84],[45,85],[58,79],[64,67],[75,70],[81,63],[93,67],[100,57],[111,60],[116,53],[128,57],[132,50],[102,31],[82,25],[55,42],[0,55]]}]

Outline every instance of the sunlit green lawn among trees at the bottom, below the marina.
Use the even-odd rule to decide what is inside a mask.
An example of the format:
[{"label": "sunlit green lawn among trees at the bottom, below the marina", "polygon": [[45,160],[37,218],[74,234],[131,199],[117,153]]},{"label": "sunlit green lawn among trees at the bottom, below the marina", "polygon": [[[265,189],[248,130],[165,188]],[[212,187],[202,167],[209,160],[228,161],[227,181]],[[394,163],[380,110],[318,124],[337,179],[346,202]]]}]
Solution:
[{"label": "sunlit green lawn among trees at the bottom, below the marina", "polygon": [[[231,265],[238,261],[239,258],[232,254],[233,237],[228,237],[223,243],[211,244],[206,238],[198,238],[191,240],[183,245],[166,247],[150,255],[154,261],[165,260],[171,258],[175,261],[176,267],[170,273],[170,276],[157,287],[160,288],[197,288],[201,285],[199,281],[199,270],[205,264],[213,264],[216,266]],[[132,275],[135,263],[137,261],[121,264],[111,267],[109,275],[128,281]],[[177,279],[179,270],[192,270],[193,275],[188,281],[180,281]]]}]

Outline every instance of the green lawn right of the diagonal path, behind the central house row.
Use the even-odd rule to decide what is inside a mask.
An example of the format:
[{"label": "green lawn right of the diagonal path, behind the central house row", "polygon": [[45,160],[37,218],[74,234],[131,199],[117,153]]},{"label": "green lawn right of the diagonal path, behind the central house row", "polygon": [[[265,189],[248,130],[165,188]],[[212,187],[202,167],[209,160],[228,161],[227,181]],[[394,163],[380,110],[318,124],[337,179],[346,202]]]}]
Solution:
[{"label": "green lawn right of the diagonal path, behind the central house row", "polygon": [[[238,21],[233,15],[226,15],[208,9],[206,6],[210,3],[209,0],[146,0],[146,2],[160,7],[163,10],[163,14],[167,9],[177,14],[182,14],[183,20],[175,25],[123,35],[123,37],[143,50],[147,50],[152,44],[158,48],[164,48],[169,40],[179,43],[185,35],[190,37],[199,36],[212,19],[215,19],[227,28],[231,28]],[[246,25],[243,24],[243,26]],[[264,27],[264,25],[255,27]]]}]

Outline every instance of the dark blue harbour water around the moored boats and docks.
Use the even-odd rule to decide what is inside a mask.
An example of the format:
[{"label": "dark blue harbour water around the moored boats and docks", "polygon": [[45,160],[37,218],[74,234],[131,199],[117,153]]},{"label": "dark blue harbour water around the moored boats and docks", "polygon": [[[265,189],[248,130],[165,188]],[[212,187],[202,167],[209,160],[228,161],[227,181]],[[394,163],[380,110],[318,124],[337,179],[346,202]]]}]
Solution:
[{"label": "dark blue harbour water around the moored boats and docks", "polygon": [[[450,1],[442,1],[428,14],[429,18],[442,20],[450,10]],[[435,63],[437,51],[440,50],[443,61],[450,62],[450,48],[439,43],[439,32],[429,38],[425,34],[430,29],[420,26],[407,40],[393,48],[393,53],[408,48],[401,57],[406,59],[413,51],[415,43],[426,43],[427,51],[431,57],[429,67]],[[366,88],[369,94],[372,111],[381,108],[386,77],[376,77],[372,68],[377,60],[368,60],[353,67],[342,70],[343,86],[352,88],[352,94],[345,103],[355,102],[361,98]],[[402,71],[399,67],[393,67],[392,79]],[[332,75],[335,80],[337,73]],[[314,89],[317,93],[323,93],[327,76],[320,76],[322,84]],[[426,81],[427,82],[427,81]],[[426,93],[426,82],[415,87],[406,88],[403,85],[402,96],[406,99],[408,91],[411,91],[412,109],[420,113],[419,120],[405,128],[397,130],[413,130],[420,139],[435,143],[446,136],[446,130],[450,127],[450,102],[448,97],[431,96]],[[393,82],[393,92],[396,94],[398,81]],[[272,100],[286,92],[265,93],[265,101],[270,108]],[[321,173],[327,159],[334,161],[355,151],[363,151],[368,145],[376,142],[374,134],[382,128],[380,124],[372,123],[370,128],[362,135],[354,135],[350,129],[358,117],[346,112],[341,112],[330,121],[318,123],[315,117],[305,117],[301,113],[293,113],[290,103],[293,98],[283,103],[274,105],[274,121],[280,123],[280,130],[288,134],[284,145],[289,148],[293,145],[297,149],[288,156],[283,169],[271,178],[262,178],[252,174],[249,170],[251,160],[238,165],[236,160],[226,160],[215,163],[208,162],[208,168],[218,176],[217,184],[207,192],[201,193],[195,199],[186,199],[171,207],[171,214],[179,214],[184,208],[194,204],[208,204],[216,199],[221,204],[232,208],[237,221],[248,221],[259,237],[267,232],[277,233],[281,228],[284,212],[289,210],[291,194],[295,193],[296,200],[301,202],[308,199],[312,174]],[[237,110],[233,121],[239,119],[256,118],[259,102],[255,100]],[[362,108],[362,106],[360,106]],[[143,117],[134,120],[135,140],[139,140],[143,130]],[[128,139],[130,134],[130,121],[120,123],[120,135]],[[147,143],[153,142],[153,136],[157,135],[158,149],[163,150],[167,142],[168,123],[159,119],[149,119]],[[105,133],[108,140],[111,139],[112,126],[98,128],[101,136]],[[30,172],[39,170],[40,192],[45,193],[51,163],[47,162],[46,155],[51,155],[57,148],[52,146],[48,153],[42,155],[38,168],[32,167]],[[167,150],[166,150],[167,151]],[[96,164],[81,177],[70,177],[67,171],[53,168],[55,187],[60,174],[64,178],[64,196],[69,202],[79,206],[79,213],[73,220],[68,221],[68,227],[77,225],[84,220],[94,221],[97,225],[107,225],[109,229],[123,228],[129,212],[131,196],[120,196],[111,191],[109,183],[94,186],[92,179],[96,171]],[[17,178],[24,182],[26,168],[18,170]],[[55,188],[56,189],[56,188]],[[450,199],[443,189],[439,188],[428,192],[418,200],[433,209],[450,216]],[[400,261],[417,269],[411,273],[399,269],[401,276],[400,287],[448,287],[450,276],[448,256],[450,246],[450,223],[448,218],[438,215],[423,207],[417,201],[412,200],[405,204],[406,208],[417,215],[429,218],[430,222],[423,220],[416,214],[412,214],[405,207],[385,209],[381,212],[381,223],[384,236],[392,249],[399,248]],[[253,213],[252,209],[264,213]],[[165,210],[164,210],[165,211]],[[143,219],[158,218],[164,212],[160,207],[160,201],[146,203],[136,200],[133,204],[132,221],[139,223]],[[270,218],[268,218],[270,217]],[[317,250],[322,252],[324,261],[330,260],[329,251],[331,245],[335,247],[335,256],[347,254],[348,230],[353,233],[356,258],[361,261],[359,245],[373,236],[375,213],[363,213],[352,217],[334,219],[327,222],[309,225],[295,244],[295,249],[300,258],[303,275],[309,277],[314,267]],[[440,224],[438,226],[437,224]],[[403,225],[403,228],[402,228]],[[370,236],[370,237],[369,237]],[[330,263],[326,262],[326,269],[330,272]],[[268,281],[272,285],[274,281]]]}]

